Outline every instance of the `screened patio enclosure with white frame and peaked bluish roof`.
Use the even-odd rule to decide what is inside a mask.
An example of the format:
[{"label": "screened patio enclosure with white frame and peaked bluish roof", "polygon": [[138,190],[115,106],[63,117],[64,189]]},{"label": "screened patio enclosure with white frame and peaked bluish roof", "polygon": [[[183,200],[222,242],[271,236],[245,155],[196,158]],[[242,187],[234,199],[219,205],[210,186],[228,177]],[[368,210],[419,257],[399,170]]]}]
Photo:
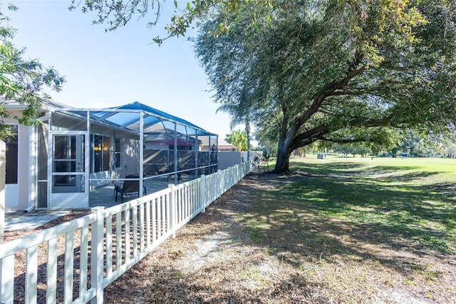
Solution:
[{"label": "screened patio enclosure with white frame and peaked bluish roof", "polygon": [[127,180],[138,197],[217,171],[207,138],[218,146],[217,134],[139,102],[54,108],[38,131],[38,208],[103,205]]}]

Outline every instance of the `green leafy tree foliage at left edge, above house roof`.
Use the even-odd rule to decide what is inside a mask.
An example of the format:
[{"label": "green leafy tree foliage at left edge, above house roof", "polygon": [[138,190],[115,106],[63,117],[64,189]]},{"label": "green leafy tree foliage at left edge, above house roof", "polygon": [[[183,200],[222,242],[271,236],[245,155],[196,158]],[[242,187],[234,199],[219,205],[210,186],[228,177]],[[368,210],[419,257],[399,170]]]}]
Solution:
[{"label": "green leafy tree foliage at left edge, above house roof", "polygon": [[[16,6],[8,6],[16,10]],[[0,6],[0,139],[9,136],[9,126],[4,118],[11,117],[6,111],[5,101],[14,99],[26,108],[21,116],[16,117],[19,123],[30,125],[36,123],[36,114],[42,98],[44,86],[60,91],[65,79],[53,68],[44,68],[37,60],[23,58],[25,49],[18,49],[13,43],[15,30],[9,25],[8,16],[3,14]]]}]

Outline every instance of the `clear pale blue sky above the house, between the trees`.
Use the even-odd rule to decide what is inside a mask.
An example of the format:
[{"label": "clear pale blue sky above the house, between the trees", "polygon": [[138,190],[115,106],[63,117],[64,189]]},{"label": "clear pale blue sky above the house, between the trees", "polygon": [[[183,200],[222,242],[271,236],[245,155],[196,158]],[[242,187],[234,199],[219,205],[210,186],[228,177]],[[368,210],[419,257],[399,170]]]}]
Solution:
[{"label": "clear pale blue sky above the house, between the trees", "polygon": [[[26,47],[24,57],[39,59],[65,76],[61,93],[50,92],[56,101],[78,108],[139,101],[218,133],[219,140],[230,132],[227,113],[216,113],[219,105],[212,101],[192,43],[186,37],[161,46],[151,43],[152,37],[164,33],[173,1],[165,3],[162,26],[147,29],[151,16],[146,16],[111,32],[92,25],[95,14],[69,11],[70,0],[1,2],[11,18],[9,24],[17,30],[14,43]],[[7,11],[7,3],[19,10]]]}]

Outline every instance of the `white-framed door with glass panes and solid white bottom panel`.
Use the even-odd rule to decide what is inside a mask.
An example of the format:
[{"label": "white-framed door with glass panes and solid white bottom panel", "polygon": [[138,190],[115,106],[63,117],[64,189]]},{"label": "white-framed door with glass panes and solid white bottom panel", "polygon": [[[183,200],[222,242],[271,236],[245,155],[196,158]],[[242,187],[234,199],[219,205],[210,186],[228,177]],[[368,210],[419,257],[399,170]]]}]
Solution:
[{"label": "white-framed door with glass panes and solid white bottom panel", "polygon": [[83,134],[53,134],[49,208],[87,208],[84,141]]}]

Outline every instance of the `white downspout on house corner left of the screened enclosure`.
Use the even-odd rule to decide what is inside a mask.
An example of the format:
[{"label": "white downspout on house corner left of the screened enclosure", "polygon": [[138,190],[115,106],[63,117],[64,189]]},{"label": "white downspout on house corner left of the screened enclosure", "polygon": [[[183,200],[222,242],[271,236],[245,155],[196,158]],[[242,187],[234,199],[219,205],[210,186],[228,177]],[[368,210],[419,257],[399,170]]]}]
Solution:
[{"label": "white downspout on house corner left of the screened enclosure", "polygon": [[[41,121],[42,123],[44,121],[48,121],[49,118],[51,118],[52,111],[47,111],[44,113],[43,116],[36,118],[37,121]],[[38,151],[38,140],[37,140],[37,126],[34,126],[33,128],[29,128],[28,130],[28,136],[29,138],[32,138],[32,145],[31,145],[31,153],[29,153],[29,159],[28,159],[28,165],[31,168],[31,175],[28,176],[28,185],[31,186],[31,188],[28,189],[28,206],[24,210],[24,213],[31,212],[35,209],[35,203],[36,203],[36,189],[38,188],[38,168],[37,168],[37,161],[38,161],[38,156],[36,155]]]}]

